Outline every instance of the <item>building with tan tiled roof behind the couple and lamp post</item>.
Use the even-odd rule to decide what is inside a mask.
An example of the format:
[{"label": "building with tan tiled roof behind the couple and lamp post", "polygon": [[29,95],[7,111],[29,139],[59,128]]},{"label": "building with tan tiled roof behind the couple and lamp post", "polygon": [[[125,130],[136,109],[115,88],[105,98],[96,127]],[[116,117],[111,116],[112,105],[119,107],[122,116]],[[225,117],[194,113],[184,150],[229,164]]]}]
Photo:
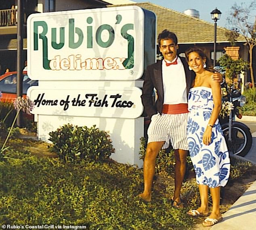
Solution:
[{"label": "building with tan tiled roof behind the couple and lamp post", "polygon": [[[122,6],[124,6],[124,4],[122,4]],[[164,29],[168,29],[177,35],[179,45],[178,53],[180,53],[180,55],[184,55],[183,53],[189,47],[197,45],[203,48],[206,51],[207,56],[213,60],[214,23],[208,23],[204,20],[201,20],[198,18],[198,15],[189,16],[149,2],[137,3],[136,6],[140,6],[141,8],[145,8],[147,10],[155,12],[155,14],[157,15],[157,35],[161,33],[161,31],[163,31]],[[107,7],[113,7],[113,5],[108,5]],[[230,47],[230,42],[227,40],[227,31],[227,29],[217,26],[216,60],[218,60],[218,58],[220,58],[226,52],[225,47],[228,47],[227,49],[232,50],[232,47]],[[233,55],[239,55],[239,57],[243,58],[243,60],[249,61],[248,47],[244,45],[245,42],[246,41],[244,40],[244,38],[242,36],[239,36],[235,48],[235,54]],[[229,52],[228,54],[231,55],[231,52]],[[256,48],[254,48],[253,55],[253,60],[255,59]],[[253,63],[253,68],[255,76],[256,62]],[[245,76],[245,82],[247,81],[250,81],[249,70],[247,71]]]}]

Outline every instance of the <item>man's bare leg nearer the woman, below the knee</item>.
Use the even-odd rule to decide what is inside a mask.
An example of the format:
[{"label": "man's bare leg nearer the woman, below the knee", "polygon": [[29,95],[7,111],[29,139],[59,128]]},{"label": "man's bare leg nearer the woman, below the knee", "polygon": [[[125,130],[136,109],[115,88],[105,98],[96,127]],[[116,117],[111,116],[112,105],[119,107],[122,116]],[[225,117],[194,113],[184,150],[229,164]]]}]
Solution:
[{"label": "man's bare leg nearer the woman, below the knee", "polygon": [[178,206],[178,203],[180,203],[180,188],[183,182],[183,179],[185,177],[186,173],[186,156],[188,151],[182,150],[182,149],[176,149],[174,150],[174,156],[175,156],[175,188],[174,188],[174,195],[173,200],[176,201],[174,203],[175,206]]}]

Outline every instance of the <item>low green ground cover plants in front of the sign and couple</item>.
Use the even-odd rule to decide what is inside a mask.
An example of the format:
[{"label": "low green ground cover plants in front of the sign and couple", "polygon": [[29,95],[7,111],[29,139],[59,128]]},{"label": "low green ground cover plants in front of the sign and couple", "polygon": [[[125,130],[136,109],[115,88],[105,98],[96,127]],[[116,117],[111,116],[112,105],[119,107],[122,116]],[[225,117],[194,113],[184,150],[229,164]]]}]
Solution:
[{"label": "low green ground cover plants in front of the sign and couple", "polygon": [[[186,214],[199,199],[193,171],[189,170],[182,188],[185,208],[175,209],[170,203],[172,155],[168,160],[165,154],[159,156],[153,201],[145,203],[136,197],[143,189],[143,172],[135,166],[109,159],[75,163],[38,157],[30,149],[42,142],[32,140],[15,139],[8,144],[14,160],[0,162],[1,224],[74,224],[90,230],[186,230],[195,225],[196,220]],[[166,170],[162,166],[167,161]],[[255,166],[233,159],[229,187],[254,174]]]}]

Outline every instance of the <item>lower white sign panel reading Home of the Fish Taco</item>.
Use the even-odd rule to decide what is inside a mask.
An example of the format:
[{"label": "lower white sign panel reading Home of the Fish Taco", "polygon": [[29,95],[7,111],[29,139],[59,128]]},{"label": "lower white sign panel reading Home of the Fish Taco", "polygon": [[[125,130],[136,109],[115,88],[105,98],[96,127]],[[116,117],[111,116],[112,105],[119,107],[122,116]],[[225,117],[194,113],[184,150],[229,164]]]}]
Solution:
[{"label": "lower white sign panel reading Home of the Fish Taco", "polygon": [[83,117],[137,118],[143,113],[141,89],[42,89],[29,88],[27,94],[34,101],[33,114]]}]

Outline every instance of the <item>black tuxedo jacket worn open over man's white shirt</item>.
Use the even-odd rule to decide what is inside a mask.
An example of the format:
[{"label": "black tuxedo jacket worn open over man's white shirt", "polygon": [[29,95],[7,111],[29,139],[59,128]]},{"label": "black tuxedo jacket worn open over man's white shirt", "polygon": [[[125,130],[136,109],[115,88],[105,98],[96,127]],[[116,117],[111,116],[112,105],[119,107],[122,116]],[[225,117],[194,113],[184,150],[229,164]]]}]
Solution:
[{"label": "black tuxedo jacket worn open over man's white shirt", "polygon": [[[191,84],[195,79],[195,72],[190,71],[185,57],[180,57],[183,63],[186,82],[187,82],[187,94],[191,88]],[[153,88],[157,91],[157,101],[153,100]],[[164,103],[164,88],[163,88],[163,78],[162,78],[162,61],[157,61],[147,67],[145,71],[145,80],[142,90],[142,103],[145,112],[149,117],[156,113],[162,113],[163,103]]]}]

